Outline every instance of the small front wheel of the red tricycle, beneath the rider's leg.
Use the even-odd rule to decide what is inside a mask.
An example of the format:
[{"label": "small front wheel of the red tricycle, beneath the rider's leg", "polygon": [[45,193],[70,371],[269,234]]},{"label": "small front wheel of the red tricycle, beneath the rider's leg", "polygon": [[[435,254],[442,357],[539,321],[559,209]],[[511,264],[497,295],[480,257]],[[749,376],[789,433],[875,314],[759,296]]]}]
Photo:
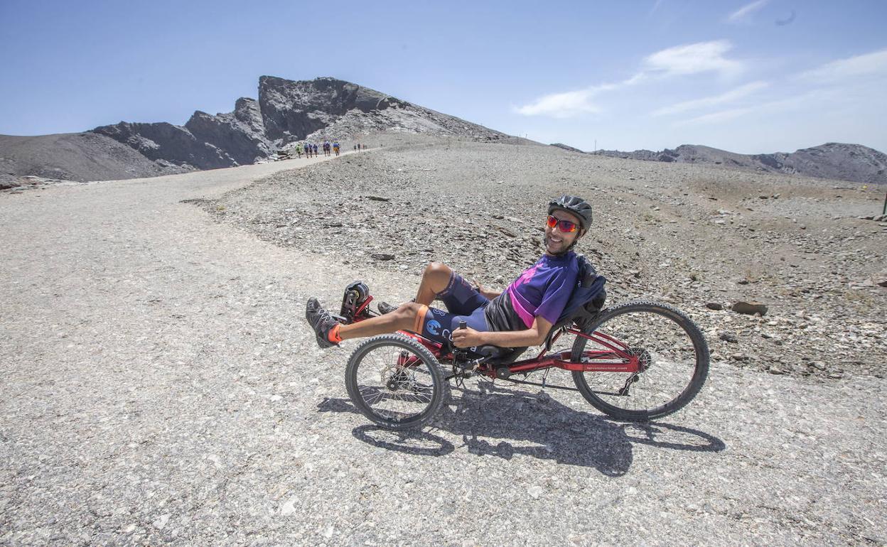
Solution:
[{"label": "small front wheel of the red tricycle, beneath the rider's leg", "polygon": [[345,369],[351,402],[386,429],[424,426],[443,402],[435,356],[402,334],[382,334],[355,348]]}]

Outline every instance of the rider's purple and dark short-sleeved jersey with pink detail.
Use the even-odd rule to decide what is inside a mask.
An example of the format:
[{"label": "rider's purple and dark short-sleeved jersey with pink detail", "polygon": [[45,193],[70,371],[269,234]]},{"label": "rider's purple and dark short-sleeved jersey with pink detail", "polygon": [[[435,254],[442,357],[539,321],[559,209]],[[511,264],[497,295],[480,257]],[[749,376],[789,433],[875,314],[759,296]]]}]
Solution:
[{"label": "rider's purple and dark short-sleeved jersey with pink detail", "polygon": [[536,317],[557,323],[576,288],[579,265],[570,251],[561,256],[543,254],[542,258],[508,285],[485,310],[487,324],[493,331],[529,329]]}]

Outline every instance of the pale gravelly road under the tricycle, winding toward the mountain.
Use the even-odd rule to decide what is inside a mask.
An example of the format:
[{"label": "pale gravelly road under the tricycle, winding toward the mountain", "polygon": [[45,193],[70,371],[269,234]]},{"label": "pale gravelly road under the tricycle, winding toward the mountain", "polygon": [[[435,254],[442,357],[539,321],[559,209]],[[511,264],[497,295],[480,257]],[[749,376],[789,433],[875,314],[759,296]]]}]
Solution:
[{"label": "pale gravelly road under the tricycle, winding toward the mountain", "polygon": [[469,381],[420,434],[369,426],[304,301],[413,277],[181,203],[306,163],[0,195],[0,543],[887,543],[872,376],[718,362],[647,426]]}]

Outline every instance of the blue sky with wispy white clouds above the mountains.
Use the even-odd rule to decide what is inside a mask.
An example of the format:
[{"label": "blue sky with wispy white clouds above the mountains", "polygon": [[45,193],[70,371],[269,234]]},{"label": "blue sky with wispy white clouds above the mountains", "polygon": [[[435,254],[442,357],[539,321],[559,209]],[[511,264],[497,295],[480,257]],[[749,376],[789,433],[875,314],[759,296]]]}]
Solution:
[{"label": "blue sky with wispy white clouds above the mountains", "polygon": [[887,152],[887,2],[0,0],[0,134],[230,112],[330,75],[583,150]]}]

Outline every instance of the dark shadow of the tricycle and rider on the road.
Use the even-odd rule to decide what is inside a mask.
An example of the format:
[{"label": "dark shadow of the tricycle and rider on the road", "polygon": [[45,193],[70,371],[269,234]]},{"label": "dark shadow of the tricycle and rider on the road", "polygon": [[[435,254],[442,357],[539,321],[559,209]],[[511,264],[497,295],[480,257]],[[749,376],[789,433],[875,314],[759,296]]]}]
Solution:
[{"label": "dark shadow of the tricycle and rider on the road", "polygon": [[[632,445],[636,443],[694,452],[726,448],[717,437],[689,427],[662,422],[616,422],[574,410],[544,391],[533,394],[483,380],[477,382],[476,389],[461,387],[458,394],[456,391],[424,429],[395,432],[367,424],[355,427],[352,434],[381,449],[440,457],[456,449],[452,442],[436,434],[447,432],[460,436],[462,446],[477,456],[550,459],[560,464],[594,467],[613,477],[628,472]],[[348,399],[336,398],[320,402],[318,411],[360,413]]]}]

